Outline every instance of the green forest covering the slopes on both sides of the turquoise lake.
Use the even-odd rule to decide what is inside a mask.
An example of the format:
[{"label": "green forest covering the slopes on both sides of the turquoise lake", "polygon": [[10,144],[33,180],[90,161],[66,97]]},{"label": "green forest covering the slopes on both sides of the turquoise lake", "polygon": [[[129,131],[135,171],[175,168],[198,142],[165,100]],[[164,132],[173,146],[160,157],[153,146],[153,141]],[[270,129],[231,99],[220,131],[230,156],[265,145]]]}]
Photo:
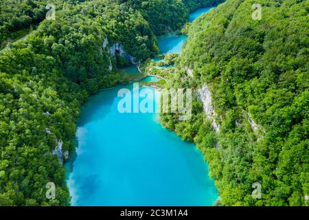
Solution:
[{"label": "green forest covering the slopes on both sides of the turquoise lake", "polygon": [[[163,126],[194,142],[222,206],[308,206],[309,1],[4,0],[0,3],[0,206],[69,206],[65,168],[52,153],[75,151],[80,107],[122,83],[115,45],[141,63],[157,36],[188,40],[165,87],[207,88],[216,114],[194,96],[192,118],[161,113]],[[45,16],[55,5],[55,19]],[[185,25],[190,12],[218,8]],[[2,48],[3,47],[3,48]],[[113,56],[115,55],[115,56]],[[193,77],[187,74],[192,69]],[[218,132],[214,129],[218,124]],[[56,199],[46,199],[47,182]],[[253,199],[252,184],[262,186]]]}]

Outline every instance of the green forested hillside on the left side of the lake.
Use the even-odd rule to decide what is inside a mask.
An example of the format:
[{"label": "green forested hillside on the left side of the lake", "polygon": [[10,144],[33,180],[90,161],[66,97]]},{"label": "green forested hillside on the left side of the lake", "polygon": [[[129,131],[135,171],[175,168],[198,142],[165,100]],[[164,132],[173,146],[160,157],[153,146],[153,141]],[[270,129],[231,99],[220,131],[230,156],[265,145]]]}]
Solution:
[{"label": "green forested hillside on the left side of the lake", "polygon": [[[0,42],[41,23],[0,51],[0,205],[67,206],[62,158],[74,150],[81,104],[119,83],[113,52],[121,46],[135,62],[154,56],[154,32],[179,28],[189,11],[184,5],[208,1],[175,1],[181,8],[155,0],[21,2],[1,2]],[[44,19],[47,3],[56,5],[55,20]],[[157,8],[164,8],[161,19],[151,17]],[[56,184],[56,199],[45,197],[49,181]]]}]

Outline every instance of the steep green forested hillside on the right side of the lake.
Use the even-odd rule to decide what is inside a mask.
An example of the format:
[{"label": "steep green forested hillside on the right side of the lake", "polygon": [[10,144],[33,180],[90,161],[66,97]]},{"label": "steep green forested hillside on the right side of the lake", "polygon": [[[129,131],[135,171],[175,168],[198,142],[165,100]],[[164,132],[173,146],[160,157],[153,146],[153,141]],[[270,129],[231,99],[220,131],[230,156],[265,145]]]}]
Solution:
[{"label": "steep green forested hillside on the right side of the lake", "polygon": [[[262,5],[260,21],[251,18],[253,3]],[[205,117],[196,97],[192,120],[179,122],[170,114],[161,120],[196,142],[223,205],[305,205],[308,11],[308,0],[228,0],[190,28],[173,86],[193,87],[200,98],[203,91],[204,104],[211,98],[215,113]],[[193,78],[186,69],[193,70]],[[251,196],[255,182],[262,186],[262,199]]]}]

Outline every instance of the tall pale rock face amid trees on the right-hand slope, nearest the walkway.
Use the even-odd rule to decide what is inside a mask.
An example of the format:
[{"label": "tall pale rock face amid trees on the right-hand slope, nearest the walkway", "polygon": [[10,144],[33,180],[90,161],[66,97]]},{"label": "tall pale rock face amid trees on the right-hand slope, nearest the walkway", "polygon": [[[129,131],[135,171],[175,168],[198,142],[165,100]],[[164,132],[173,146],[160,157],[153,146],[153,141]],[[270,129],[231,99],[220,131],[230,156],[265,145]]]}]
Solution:
[{"label": "tall pale rock face amid trees on the right-hand slope, nearest the walkway", "polygon": [[218,132],[220,127],[215,120],[216,112],[214,111],[211,104],[211,93],[208,89],[207,84],[205,83],[201,89],[198,89],[197,92],[198,98],[201,99],[203,102],[206,117],[211,120],[211,125],[214,127],[215,131]]}]

